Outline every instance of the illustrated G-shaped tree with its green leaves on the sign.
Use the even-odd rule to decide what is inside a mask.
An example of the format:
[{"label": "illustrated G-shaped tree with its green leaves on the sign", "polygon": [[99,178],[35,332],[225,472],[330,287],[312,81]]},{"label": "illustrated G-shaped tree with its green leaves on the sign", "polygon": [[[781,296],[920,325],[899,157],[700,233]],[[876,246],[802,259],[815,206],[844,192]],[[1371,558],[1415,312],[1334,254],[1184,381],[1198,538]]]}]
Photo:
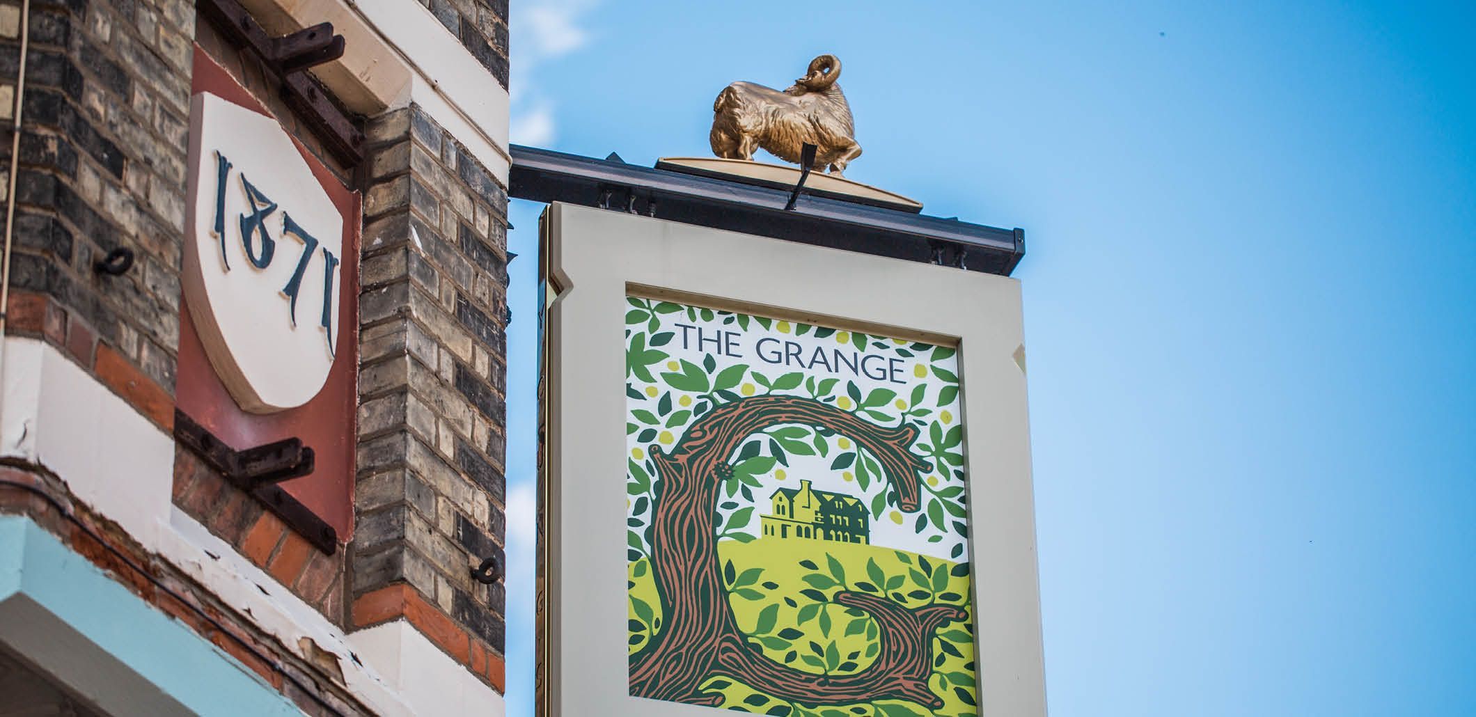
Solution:
[{"label": "illustrated G-shaped tree with its green leaves on the sign", "polygon": [[[658,403],[654,413],[649,409],[633,409],[632,422],[627,425],[627,431],[638,443],[649,446],[649,456],[644,456],[639,448],[635,450],[641,463],[632,460],[627,475],[629,494],[633,500],[630,524],[635,528],[645,527],[641,533],[635,530],[630,533],[632,561],[636,565],[633,575],[642,577],[645,569],[649,569],[660,602],[658,611],[652,611],[645,602],[632,600],[633,615],[639,620],[632,620],[635,652],[630,655],[630,693],[717,707],[726,698],[717,687],[722,680],[714,677],[729,677],[753,690],[791,704],[875,704],[897,699],[931,710],[943,707],[943,699],[930,690],[930,677],[943,659],[934,649],[961,655],[949,645],[949,639],[942,639],[936,633],[948,623],[967,621],[965,605],[928,600],[909,606],[896,593],[894,599],[889,599],[887,590],[878,587],[883,575],[878,574],[875,562],[871,562],[868,569],[875,575],[872,580],[877,584],[863,581],[858,586],[861,590],[850,590],[844,580],[838,580],[835,587],[840,590],[828,598],[828,603],[838,605],[837,609],[847,609],[850,615],[869,617],[871,626],[865,627],[866,637],[871,639],[874,634],[875,642],[874,652],[868,648],[868,657],[874,654],[875,658],[861,668],[856,668],[855,662],[850,662],[849,668],[834,671],[827,667],[824,676],[790,667],[793,652],[784,662],[775,661],[751,640],[753,634],[745,634],[739,627],[728,602],[729,589],[735,589],[739,595],[751,593],[751,589],[739,587],[745,578],[738,575],[735,580],[731,564],[729,574],[725,575],[717,550],[722,538],[751,540],[751,536],[742,533],[751,509],[735,508],[731,502],[722,503],[726,510],[732,510],[725,518],[719,510],[719,502],[725,490],[729,497],[735,490],[741,490],[751,500],[744,484],[757,487],[754,465],[772,468],[773,456],[782,462],[785,450],[791,454],[813,454],[800,443],[801,437],[813,435],[813,447],[821,454],[825,451],[825,441],[834,437],[841,447],[846,447],[847,441],[855,443],[855,451],[838,454],[831,463],[832,469],[850,468],[855,474],[847,472],[846,479],[856,479],[863,490],[868,481],[886,481],[874,496],[871,506],[874,515],[880,516],[890,503],[902,512],[918,513],[920,534],[924,530],[953,530],[962,536],[965,531],[961,522],[962,487],[934,488],[939,482],[930,475],[939,472],[946,477],[951,471],[956,471],[961,478],[958,426],[943,428],[939,422],[928,425],[924,420],[930,410],[921,406],[924,391],[921,385],[911,394],[911,401],[896,397],[886,388],[863,394],[853,382],[847,382],[844,394],[831,395],[832,388],[837,388],[837,379],[806,381],[801,373],[769,379],[753,372],[753,381],[768,391],[753,395],[756,387],[744,382],[748,375],[747,366],[717,370],[710,356],[703,366],[685,360],[667,361],[666,367],[670,372],[661,373],[658,382],[651,369],[669,358],[661,347],[672,341],[670,332],[658,332],[663,314],[685,311],[691,322],[716,319],[737,323],[742,329],[748,329],[748,322],[759,322],[765,329],[775,325],[769,319],[672,302],[632,298],[630,304],[633,308],[626,314],[626,323],[635,329],[627,330],[627,376],[682,392],[680,404],[675,404],[672,392],[661,392],[657,387],[646,387],[644,394],[635,384],[627,389],[636,401],[660,395],[660,400],[654,401]],[[787,322],[776,325],[778,332],[804,333],[812,329],[816,338],[834,335],[837,342],[862,350],[866,347],[868,336],[861,333],[847,336],[844,332],[837,335],[834,329],[790,326]],[[878,336],[869,339],[874,348],[883,341]],[[912,356],[906,350],[892,348],[900,356]],[[945,348],[936,351],[934,357],[952,354],[952,350]],[[920,364],[918,378],[924,376]],[[956,376],[936,366],[933,370],[948,384],[936,397],[936,406],[942,407],[956,398]],[[801,382],[809,395],[781,394],[799,389]],[[893,409],[900,415],[887,413]],[[943,415],[946,416],[946,412]],[[897,425],[881,425],[892,420]],[[928,435],[922,441],[920,441],[922,434],[920,426],[928,428]],[[672,431],[677,431],[680,437]],[[757,440],[750,443],[750,438]],[[760,441],[770,447],[770,457],[756,456]],[[661,448],[658,444],[669,447]],[[914,448],[922,454],[914,453]],[[927,478],[927,482],[924,484],[921,478]],[[920,496],[922,488],[930,493],[925,509]],[[636,515],[645,518],[638,519]],[[900,513],[893,513],[893,519],[900,522]],[[930,541],[940,538],[942,536],[934,534]],[[961,544],[955,547],[955,556]],[[638,561],[642,556],[649,559],[648,564]],[[927,568],[925,559],[921,562],[924,569],[921,574],[914,571],[914,581],[921,578],[921,584],[925,586],[927,574],[931,572],[934,586],[946,583],[949,572],[946,567],[933,569]],[[837,564],[832,565],[835,565],[832,569],[838,569]],[[956,572],[958,568],[964,568],[964,572]],[[958,568],[955,575],[967,574],[967,567]],[[744,571],[744,575],[757,572]],[[937,592],[939,589],[933,587],[933,593]],[[757,598],[757,593],[753,596]],[[821,605],[812,605],[810,615],[822,615],[822,624],[828,628],[828,615],[819,608]],[[775,609],[769,606],[760,614],[760,631],[775,627]],[[865,618],[862,621],[865,623]],[[797,634],[796,630],[787,631]],[[967,634],[956,631],[951,634],[951,639],[968,640]],[[934,637],[939,637],[937,648]],[[971,667],[968,670],[971,671]],[[945,680],[945,685],[953,685],[959,698],[965,704],[973,704],[973,698],[959,686],[967,685],[973,689],[971,676],[955,673]],[[881,714],[884,705],[877,707]],[[886,714],[902,713],[887,710]]]}]

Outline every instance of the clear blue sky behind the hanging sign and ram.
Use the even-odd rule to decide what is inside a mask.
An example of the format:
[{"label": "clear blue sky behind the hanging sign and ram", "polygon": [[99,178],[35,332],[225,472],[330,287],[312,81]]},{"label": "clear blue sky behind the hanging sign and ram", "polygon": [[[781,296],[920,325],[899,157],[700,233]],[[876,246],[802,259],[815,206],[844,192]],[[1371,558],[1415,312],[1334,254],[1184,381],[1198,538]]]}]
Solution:
[{"label": "clear blue sky behind the hanging sign and ram", "polygon": [[[1476,714],[1472,6],[515,0],[512,24],[514,142],[706,155],[717,90],[831,52],[849,177],[1026,230],[1052,714]],[[509,239],[518,717],[539,211]]]}]

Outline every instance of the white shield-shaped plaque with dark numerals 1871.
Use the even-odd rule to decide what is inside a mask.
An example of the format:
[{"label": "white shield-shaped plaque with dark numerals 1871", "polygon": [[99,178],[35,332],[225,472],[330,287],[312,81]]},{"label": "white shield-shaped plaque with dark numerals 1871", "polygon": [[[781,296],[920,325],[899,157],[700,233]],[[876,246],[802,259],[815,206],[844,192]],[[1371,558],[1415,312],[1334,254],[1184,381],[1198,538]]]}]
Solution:
[{"label": "white shield-shaped plaque with dark numerals 1871", "polygon": [[317,395],[334,364],[342,215],[269,117],[190,102],[184,295],[201,342],[242,409]]}]

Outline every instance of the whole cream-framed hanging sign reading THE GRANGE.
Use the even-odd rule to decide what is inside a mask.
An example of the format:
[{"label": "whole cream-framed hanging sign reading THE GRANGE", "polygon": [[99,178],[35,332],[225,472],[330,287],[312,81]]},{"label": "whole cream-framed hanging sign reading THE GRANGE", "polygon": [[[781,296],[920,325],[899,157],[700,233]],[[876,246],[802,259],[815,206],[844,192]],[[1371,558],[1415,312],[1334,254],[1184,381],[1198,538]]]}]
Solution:
[{"label": "whole cream-framed hanging sign reading THE GRANGE", "polygon": [[545,714],[1045,714],[1018,282],[558,204],[545,246]]}]

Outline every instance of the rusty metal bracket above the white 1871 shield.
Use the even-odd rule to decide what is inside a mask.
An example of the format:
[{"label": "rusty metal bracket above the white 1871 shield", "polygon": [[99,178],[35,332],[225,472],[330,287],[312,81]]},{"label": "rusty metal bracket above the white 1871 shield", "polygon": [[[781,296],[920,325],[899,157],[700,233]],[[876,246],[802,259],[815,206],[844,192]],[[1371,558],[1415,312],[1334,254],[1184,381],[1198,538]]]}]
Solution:
[{"label": "rusty metal bracket above the white 1871 shield", "polygon": [[339,162],[363,161],[363,131],[311,75],[303,72],[344,55],[342,35],[320,22],[297,32],[272,37],[236,0],[198,0],[195,7],[236,47],[249,47],[282,84],[282,100],[323,140]]}]

